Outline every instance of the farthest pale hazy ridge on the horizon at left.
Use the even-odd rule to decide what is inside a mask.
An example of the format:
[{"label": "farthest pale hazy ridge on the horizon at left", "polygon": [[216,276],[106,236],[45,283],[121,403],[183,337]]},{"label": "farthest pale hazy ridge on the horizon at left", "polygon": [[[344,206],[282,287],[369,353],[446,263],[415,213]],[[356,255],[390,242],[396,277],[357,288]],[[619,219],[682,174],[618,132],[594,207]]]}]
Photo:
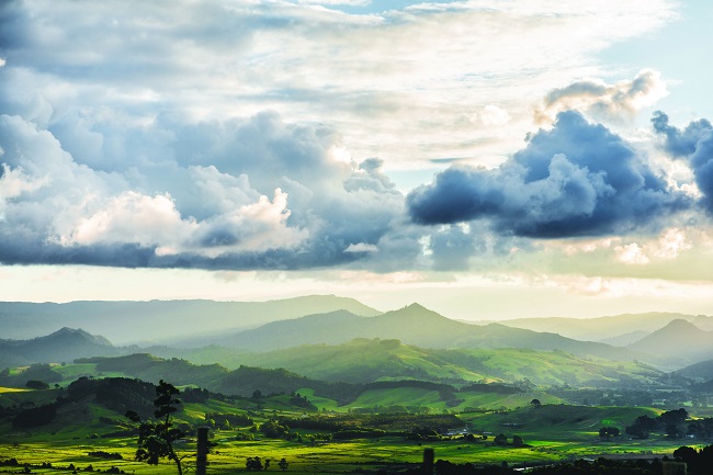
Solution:
[{"label": "farthest pale hazy ridge on the horizon at left", "polygon": [[8,339],[35,338],[70,327],[103,335],[115,344],[170,342],[189,335],[247,329],[272,320],[340,309],[355,315],[380,314],[353,298],[335,295],[269,302],[0,302],[0,328],[2,337]]}]

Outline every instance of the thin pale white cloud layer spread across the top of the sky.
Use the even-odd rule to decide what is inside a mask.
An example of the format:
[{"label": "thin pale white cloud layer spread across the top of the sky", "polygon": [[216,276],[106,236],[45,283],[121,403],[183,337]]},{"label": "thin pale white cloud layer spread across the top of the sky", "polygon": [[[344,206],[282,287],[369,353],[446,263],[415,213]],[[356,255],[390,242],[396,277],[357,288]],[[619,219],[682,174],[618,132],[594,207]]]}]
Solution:
[{"label": "thin pale white cloud layer spread across the top of the sky", "polygon": [[[595,54],[676,14],[669,0],[310,3],[4,2],[0,110],[54,127],[65,146],[68,128],[105,126],[104,149],[112,114],[225,122],[276,110],[290,123],[328,121],[360,159],[428,166],[512,151],[532,98],[597,76]],[[105,121],[88,122],[98,109]],[[86,139],[80,162],[102,146]]]}]

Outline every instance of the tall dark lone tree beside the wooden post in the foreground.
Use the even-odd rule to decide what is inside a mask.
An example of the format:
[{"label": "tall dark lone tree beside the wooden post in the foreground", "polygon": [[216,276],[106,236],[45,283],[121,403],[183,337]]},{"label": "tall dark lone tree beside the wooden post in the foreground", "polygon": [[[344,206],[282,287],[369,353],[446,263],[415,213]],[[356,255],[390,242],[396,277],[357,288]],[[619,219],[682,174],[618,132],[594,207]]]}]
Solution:
[{"label": "tall dark lone tree beside the wooden post in the foreground", "polygon": [[181,400],[177,395],[180,391],[173,385],[159,381],[156,386],[156,399],[154,416],[156,420],[142,420],[140,416],[128,410],[126,417],[138,423],[138,450],[136,460],[145,461],[150,465],[158,465],[160,459],[168,459],[176,463],[179,475],[183,475],[182,460],[186,456],[179,456],[173,449],[173,443],[185,437],[181,429],[173,428],[171,415],[178,410]]}]

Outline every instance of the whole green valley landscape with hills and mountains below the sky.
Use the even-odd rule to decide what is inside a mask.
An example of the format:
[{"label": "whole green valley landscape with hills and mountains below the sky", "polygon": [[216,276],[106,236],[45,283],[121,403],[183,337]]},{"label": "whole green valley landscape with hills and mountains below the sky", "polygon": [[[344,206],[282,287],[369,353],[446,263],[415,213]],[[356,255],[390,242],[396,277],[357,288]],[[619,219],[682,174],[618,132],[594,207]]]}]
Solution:
[{"label": "whole green valley landscape with hills and mountains below the sky", "polygon": [[[644,336],[615,346],[460,323],[418,304],[358,315],[366,307],[317,301],[329,303],[325,313],[301,315],[293,302],[290,317],[250,317],[252,328],[226,327],[213,340],[133,328],[120,341],[134,343],[117,344],[111,326],[106,335],[61,327],[0,340],[0,473],[176,473],[166,459],[134,460],[137,429],[125,417],[151,417],[159,381],[181,392],[171,416],[185,432],[177,451],[190,466],[195,430],[208,427],[214,474],[248,471],[256,457],[263,470],[269,460],[270,471],[296,474],[417,473],[427,446],[439,474],[503,462],[544,471],[601,456],[674,460],[680,446],[713,440],[713,361],[700,316],[624,326]],[[14,321],[2,307],[0,320]],[[200,318],[189,314],[183,321]],[[104,318],[55,317],[81,328]],[[616,337],[607,321],[600,340]],[[666,422],[679,410],[682,419]]]}]

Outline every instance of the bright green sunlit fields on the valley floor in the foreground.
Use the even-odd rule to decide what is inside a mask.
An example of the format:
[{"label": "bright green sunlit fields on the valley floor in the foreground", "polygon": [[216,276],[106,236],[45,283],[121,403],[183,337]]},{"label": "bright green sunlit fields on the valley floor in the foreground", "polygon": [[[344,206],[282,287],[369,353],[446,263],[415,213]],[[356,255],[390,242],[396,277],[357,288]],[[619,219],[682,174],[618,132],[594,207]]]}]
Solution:
[{"label": "bright green sunlit fields on the valley floor in the foreground", "polygon": [[[32,392],[4,393],[15,397]],[[34,392],[39,396],[43,392]],[[48,392],[50,393],[50,392]],[[374,402],[388,402],[388,392],[374,396]],[[414,402],[426,403],[432,395],[429,392],[414,392]],[[305,391],[308,394],[308,391]],[[378,397],[376,397],[378,396]],[[206,412],[241,414],[246,411],[235,405],[208,399],[201,404],[185,404],[177,416],[177,421],[200,425]],[[303,442],[267,439],[259,437],[252,441],[238,441],[238,433],[246,433],[248,428],[230,430],[212,430],[211,437],[217,443],[210,455],[208,473],[228,474],[245,471],[246,457],[259,456],[271,460],[271,470],[279,471],[276,463],[285,457],[290,467],[288,473],[353,473],[362,471],[374,473],[378,468],[394,464],[418,464],[422,460],[425,446],[435,451],[437,460],[448,460],[453,463],[501,464],[510,465],[543,463],[570,457],[596,457],[600,455],[641,455],[652,454],[663,456],[684,444],[681,440],[667,440],[654,437],[644,441],[632,441],[627,437],[618,437],[600,441],[598,429],[602,426],[616,426],[623,429],[633,419],[642,415],[657,416],[658,410],[650,408],[622,407],[582,407],[565,405],[543,405],[540,408],[523,407],[507,411],[466,412],[457,418],[463,427],[472,432],[485,434],[468,441],[463,437],[444,438],[418,442],[404,437],[387,436],[380,439],[359,439],[329,442],[310,441],[315,431],[301,430]],[[264,421],[267,417],[286,416],[299,418],[299,411],[270,409],[258,415],[256,421]],[[100,421],[104,418],[104,422]],[[336,417],[325,415],[322,417]],[[342,416],[344,417],[344,416]],[[115,421],[114,425],[106,420]],[[32,473],[61,473],[57,467],[67,468],[70,464],[78,470],[92,465],[94,470],[105,472],[117,467],[134,474],[172,474],[176,467],[168,463],[151,466],[133,460],[136,450],[136,439],[133,437],[102,437],[115,431],[125,422],[122,415],[95,404],[88,404],[63,412],[57,420],[48,426],[35,429],[14,430],[9,422],[0,425],[0,462],[16,459],[20,464],[32,464]],[[455,429],[455,428],[454,428]],[[505,433],[509,439],[518,434],[527,443],[523,448],[512,445],[497,446],[493,443],[495,434]],[[179,445],[183,453],[194,450],[194,440],[189,439]],[[90,456],[89,452],[105,451],[118,453],[122,460],[104,460]],[[39,467],[50,463],[54,468]],[[7,470],[18,473],[20,468],[0,467],[0,473]]]}]

